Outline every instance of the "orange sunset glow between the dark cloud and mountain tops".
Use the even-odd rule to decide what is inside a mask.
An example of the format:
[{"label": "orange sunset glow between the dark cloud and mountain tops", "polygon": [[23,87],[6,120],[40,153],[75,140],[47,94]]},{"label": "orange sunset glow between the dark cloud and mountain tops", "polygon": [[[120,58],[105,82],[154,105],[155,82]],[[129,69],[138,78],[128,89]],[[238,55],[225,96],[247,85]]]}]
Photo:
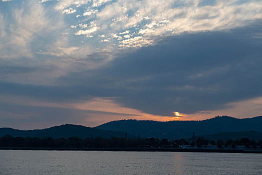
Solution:
[{"label": "orange sunset glow between the dark cloud and mountain tops", "polygon": [[[217,115],[228,115],[237,118],[243,116],[259,116],[261,115],[262,96],[251,98],[248,100],[228,103],[231,108],[217,110],[203,110],[195,113],[180,113],[173,111],[171,115],[154,115],[143,112],[139,109],[130,108],[118,103],[117,97],[97,97],[92,100],[77,100],[70,102],[53,102],[39,100],[38,98],[30,98],[26,96],[0,95],[0,102],[9,102],[13,104],[22,104],[27,106],[43,106],[61,109],[79,110],[81,113],[78,117],[72,115],[72,119],[66,122],[74,124],[82,124],[86,126],[97,126],[99,124],[120,120],[120,119],[137,119],[137,120],[156,120],[156,121],[173,121],[173,120],[204,120],[213,118]],[[26,103],[25,103],[26,101]],[[249,111],[243,109],[249,108]],[[250,113],[250,111],[254,111]],[[15,116],[16,113],[7,113],[10,116]],[[30,113],[24,114],[24,117],[33,117]],[[61,120],[60,123],[65,121]],[[29,128],[29,127],[28,127]]]}]

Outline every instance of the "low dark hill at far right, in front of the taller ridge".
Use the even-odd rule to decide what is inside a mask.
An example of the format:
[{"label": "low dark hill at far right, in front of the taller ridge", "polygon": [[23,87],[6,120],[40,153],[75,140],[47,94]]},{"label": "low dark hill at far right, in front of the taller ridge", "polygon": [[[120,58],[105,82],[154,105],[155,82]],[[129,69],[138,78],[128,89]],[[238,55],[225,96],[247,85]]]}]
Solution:
[{"label": "low dark hill at far right, in front of the taller ridge", "polygon": [[259,141],[262,139],[262,132],[258,132],[255,130],[250,131],[237,131],[237,132],[219,132],[212,135],[197,135],[196,137],[204,137],[210,140],[218,140],[222,139],[227,141],[228,139],[241,139],[241,138],[249,138],[251,140]]}]

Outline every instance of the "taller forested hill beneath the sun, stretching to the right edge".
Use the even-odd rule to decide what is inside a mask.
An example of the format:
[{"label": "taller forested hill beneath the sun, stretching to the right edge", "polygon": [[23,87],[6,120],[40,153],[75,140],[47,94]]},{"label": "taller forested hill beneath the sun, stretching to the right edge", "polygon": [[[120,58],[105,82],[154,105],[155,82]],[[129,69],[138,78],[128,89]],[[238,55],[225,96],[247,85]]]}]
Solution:
[{"label": "taller forested hill beneath the sun, stretching to the right edge", "polygon": [[253,118],[234,118],[231,116],[217,116],[200,121],[152,121],[152,120],[117,120],[101,124],[96,128],[126,131],[140,137],[163,138],[190,138],[192,133],[196,135],[208,135],[218,132],[249,131],[262,132],[262,116]]}]

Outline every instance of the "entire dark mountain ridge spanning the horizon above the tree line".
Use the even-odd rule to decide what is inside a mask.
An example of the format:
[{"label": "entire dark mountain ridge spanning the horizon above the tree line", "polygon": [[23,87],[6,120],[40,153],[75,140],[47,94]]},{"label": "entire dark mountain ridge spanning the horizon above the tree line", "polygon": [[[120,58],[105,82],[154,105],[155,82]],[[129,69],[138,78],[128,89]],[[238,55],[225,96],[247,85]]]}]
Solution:
[{"label": "entire dark mountain ridge spanning the horizon above the tree line", "polygon": [[[246,132],[262,132],[262,116],[251,118],[235,118],[231,116],[216,116],[205,120],[174,120],[154,121],[122,119],[103,123],[96,127],[87,127],[75,124],[61,124],[44,129],[21,130],[10,127],[0,128],[0,136],[10,134],[20,137],[52,137],[68,138],[76,136],[85,137],[154,137],[154,138],[190,138],[195,132],[197,136],[207,136],[220,132],[239,132],[239,136]],[[163,134],[165,130],[165,134]],[[243,133],[240,134],[240,131]],[[245,134],[244,134],[245,132]],[[260,138],[260,133],[255,133]],[[233,133],[229,133],[233,134]],[[234,133],[238,137],[238,133]],[[248,134],[249,135],[249,134]],[[225,135],[222,135],[226,137]],[[211,136],[212,137],[212,136]],[[262,139],[262,138],[261,138]]]}]

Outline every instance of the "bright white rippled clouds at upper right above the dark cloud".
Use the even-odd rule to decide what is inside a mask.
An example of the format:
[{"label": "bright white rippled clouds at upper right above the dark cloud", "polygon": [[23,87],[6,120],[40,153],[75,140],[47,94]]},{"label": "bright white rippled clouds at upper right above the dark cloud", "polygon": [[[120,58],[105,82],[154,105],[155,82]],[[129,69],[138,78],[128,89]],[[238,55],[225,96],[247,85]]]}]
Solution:
[{"label": "bright white rippled clouds at upper right above the dark cloud", "polygon": [[[262,18],[261,7],[262,3],[257,0],[239,3],[235,0],[215,0],[212,3],[199,0],[117,0],[100,9],[96,13],[96,20],[98,25],[106,25],[104,28],[112,30],[112,33],[116,30],[131,30],[134,37],[148,36],[155,42],[159,35],[172,36],[185,31],[218,31],[244,26],[250,20]],[[119,46],[125,46],[122,40],[119,40]]]}]

